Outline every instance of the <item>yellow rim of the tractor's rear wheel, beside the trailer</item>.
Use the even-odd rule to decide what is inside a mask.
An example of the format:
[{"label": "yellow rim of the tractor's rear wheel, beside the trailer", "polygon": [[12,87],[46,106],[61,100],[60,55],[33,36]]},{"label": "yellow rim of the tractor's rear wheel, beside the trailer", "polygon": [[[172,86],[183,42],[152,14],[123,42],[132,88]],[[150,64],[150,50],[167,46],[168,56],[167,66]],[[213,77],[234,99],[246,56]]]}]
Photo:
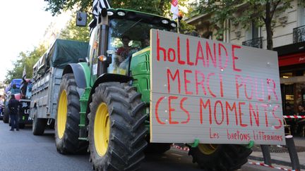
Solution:
[{"label": "yellow rim of the tractor's rear wheel, beside the trailer", "polygon": [[59,139],[64,137],[64,132],[66,129],[66,118],[67,118],[67,111],[68,111],[68,99],[66,96],[66,90],[61,92],[59,98],[59,108],[57,111],[57,133],[59,135]]}]

